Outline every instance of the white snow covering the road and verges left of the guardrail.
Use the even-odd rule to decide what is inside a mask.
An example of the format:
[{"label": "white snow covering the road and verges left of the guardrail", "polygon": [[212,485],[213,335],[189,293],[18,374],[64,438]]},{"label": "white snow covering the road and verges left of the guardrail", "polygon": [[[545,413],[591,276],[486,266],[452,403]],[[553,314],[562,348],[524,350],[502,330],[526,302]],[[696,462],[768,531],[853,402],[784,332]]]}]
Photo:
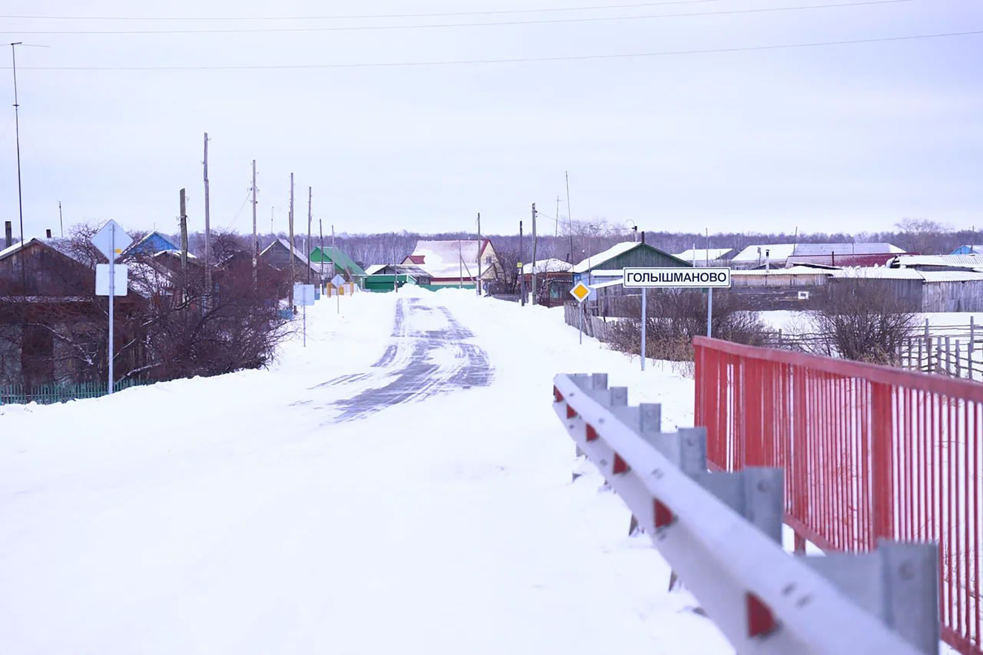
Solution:
[{"label": "white snow covering the road and verges left of the guardrail", "polygon": [[562,309],[414,294],[489,386],[339,421],[399,379],[361,375],[397,301],[361,294],[271,370],[0,408],[0,653],[729,652],[600,476],[570,482],[550,407],[554,373],[605,371],[671,429],[692,381],[578,345]]}]

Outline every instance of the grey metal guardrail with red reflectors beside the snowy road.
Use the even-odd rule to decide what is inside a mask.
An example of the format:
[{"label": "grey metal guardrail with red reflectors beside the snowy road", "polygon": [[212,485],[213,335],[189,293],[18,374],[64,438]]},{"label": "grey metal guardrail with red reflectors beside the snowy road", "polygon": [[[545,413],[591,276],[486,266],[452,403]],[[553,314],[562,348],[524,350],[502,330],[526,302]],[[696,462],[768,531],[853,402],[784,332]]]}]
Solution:
[{"label": "grey metal guardrail with red reflectors beside the snowy road", "polygon": [[829,557],[781,548],[781,468],[709,472],[706,430],[661,431],[607,374],[553,378],[553,409],[739,653],[938,653],[934,544]]}]

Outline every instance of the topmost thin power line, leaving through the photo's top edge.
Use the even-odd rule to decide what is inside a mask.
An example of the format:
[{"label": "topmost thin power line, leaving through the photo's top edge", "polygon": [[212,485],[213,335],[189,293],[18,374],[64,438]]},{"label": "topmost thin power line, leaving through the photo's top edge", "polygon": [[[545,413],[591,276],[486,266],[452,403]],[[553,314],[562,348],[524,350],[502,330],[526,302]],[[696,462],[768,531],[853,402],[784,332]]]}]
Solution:
[{"label": "topmost thin power line, leaving through the photo's top edge", "polygon": [[695,5],[720,0],[669,0],[666,2],[640,2],[631,5],[594,5],[590,7],[551,7],[547,9],[501,9],[482,12],[443,12],[438,14],[365,14],[341,16],[0,16],[0,19],[35,19],[52,21],[345,21],[365,19],[418,19],[442,18],[448,16],[495,16],[502,14],[545,14],[555,12],[586,12],[608,9],[638,9],[639,7],[661,7],[665,5]]}]

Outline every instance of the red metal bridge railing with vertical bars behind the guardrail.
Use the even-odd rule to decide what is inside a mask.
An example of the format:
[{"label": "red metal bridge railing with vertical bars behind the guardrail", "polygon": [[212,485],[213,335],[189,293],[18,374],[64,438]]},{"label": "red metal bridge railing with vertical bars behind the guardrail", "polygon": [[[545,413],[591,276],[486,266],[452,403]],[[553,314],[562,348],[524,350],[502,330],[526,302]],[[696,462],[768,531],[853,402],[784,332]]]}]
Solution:
[{"label": "red metal bridge railing with vertical bars behind the guardrail", "polygon": [[939,544],[943,638],[983,654],[983,384],[697,337],[695,424],[724,470],[781,466],[796,549]]}]

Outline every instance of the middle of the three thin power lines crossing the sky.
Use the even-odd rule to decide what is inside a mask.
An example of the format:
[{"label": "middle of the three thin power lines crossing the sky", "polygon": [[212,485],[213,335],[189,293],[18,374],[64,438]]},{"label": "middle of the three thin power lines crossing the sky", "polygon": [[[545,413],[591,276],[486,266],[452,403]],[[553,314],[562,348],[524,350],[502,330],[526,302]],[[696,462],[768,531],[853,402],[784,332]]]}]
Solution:
[{"label": "middle of the three thin power lines crossing the sky", "polygon": [[639,21],[651,19],[693,18],[696,16],[732,16],[740,14],[765,14],[775,12],[792,12],[805,9],[836,9],[840,7],[863,7],[868,5],[896,5],[915,0],[860,0],[859,2],[842,2],[834,5],[802,5],[796,7],[759,7],[757,9],[729,9],[716,12],[690,12],[688,14],[650,14],[647,16],[595,16],[575,19],[548,19],[545,21],[501,21],[497,23],[445,23],[418,25],[389,25],[389,26],[335,26],[335,27],[228,27],[223,29],[65,29],[65,30],[28,30],[10,31],[9,34],[245,34],[259,32],[301,32],[301,31],[366,31],[377,29],[424,29],[445,27],[505,27],[523,25],[556,25],[572,23],[600,23],[611,21]]}]

